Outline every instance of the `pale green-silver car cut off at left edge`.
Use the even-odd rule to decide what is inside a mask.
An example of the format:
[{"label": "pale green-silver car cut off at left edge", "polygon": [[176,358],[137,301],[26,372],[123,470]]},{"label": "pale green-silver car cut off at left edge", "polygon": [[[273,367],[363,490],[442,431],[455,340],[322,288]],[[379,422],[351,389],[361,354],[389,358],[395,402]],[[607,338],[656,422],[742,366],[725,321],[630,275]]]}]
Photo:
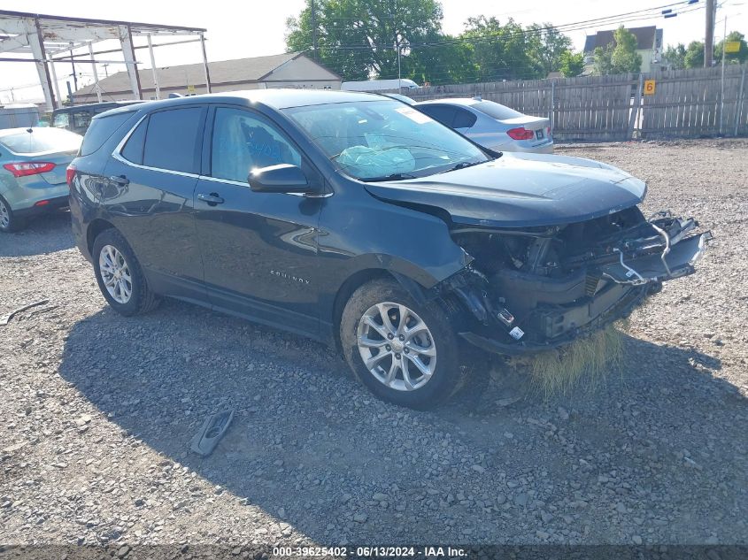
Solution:
[{"label": "pale green-silver car cut off at left edge", "polygon": [[60,128],[0,130],[0,232],[62,206],[69,194],[66,169],[83,137]]}]

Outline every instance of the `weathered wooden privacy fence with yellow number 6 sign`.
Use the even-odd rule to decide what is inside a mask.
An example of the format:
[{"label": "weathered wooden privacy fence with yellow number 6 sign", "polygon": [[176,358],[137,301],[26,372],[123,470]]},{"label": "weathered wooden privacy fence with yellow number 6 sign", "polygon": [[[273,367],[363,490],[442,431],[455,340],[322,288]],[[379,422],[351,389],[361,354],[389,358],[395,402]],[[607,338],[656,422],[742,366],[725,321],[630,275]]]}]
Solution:
[{"label": "weathered wooden privacy fence with yellow number 6 sign", "polygon": [[[560,142],[748,135],[748,65],[657,73],[497,81],[403,91],[416,101],[473,97],[551,119]],[[654,81],[644,91],[648,81]],[[651,93],[652,92],[652,93]]]}]

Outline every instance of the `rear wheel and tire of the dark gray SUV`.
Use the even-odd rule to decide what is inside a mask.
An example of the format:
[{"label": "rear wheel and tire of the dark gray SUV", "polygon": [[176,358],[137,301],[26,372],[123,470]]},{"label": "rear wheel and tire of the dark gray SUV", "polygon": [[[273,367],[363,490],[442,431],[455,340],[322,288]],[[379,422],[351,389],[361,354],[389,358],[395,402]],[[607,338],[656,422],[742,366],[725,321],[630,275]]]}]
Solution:
[{"label": "rear wheel and tire of the dark gray SUV", "polygon": [[[98,234],[92,258],[98,287],[114,311],[132,317],[158,306],[158,296],[148,287],[133,249],[119,231],[112,228]],[[113,287],[113,293],[107,283]]]}]

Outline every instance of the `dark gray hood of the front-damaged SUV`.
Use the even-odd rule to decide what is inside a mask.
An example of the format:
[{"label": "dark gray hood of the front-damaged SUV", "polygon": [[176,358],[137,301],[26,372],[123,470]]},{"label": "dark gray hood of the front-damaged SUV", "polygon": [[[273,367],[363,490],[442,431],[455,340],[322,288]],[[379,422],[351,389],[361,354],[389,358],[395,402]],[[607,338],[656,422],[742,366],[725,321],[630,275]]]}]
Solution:
[{"label": "dark gray hood of the front-damaged SUV", "polygon": [[505,153],[420,179],[366,183],[390,203],[431,206],[458,224],[552,226],[594,219],[642,202],[644,181],[580,157]]}]

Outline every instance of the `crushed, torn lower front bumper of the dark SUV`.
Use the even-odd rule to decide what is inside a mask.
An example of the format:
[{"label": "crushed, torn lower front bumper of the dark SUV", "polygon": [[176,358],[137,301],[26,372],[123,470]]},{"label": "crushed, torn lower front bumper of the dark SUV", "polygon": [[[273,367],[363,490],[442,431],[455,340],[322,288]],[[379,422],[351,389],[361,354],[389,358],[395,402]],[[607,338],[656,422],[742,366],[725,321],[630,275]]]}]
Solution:
[{"label": "crushed, torn lower front bumper of the dark SUV", "polygon": [[[642,228],[632,237],[604,243],[565,279],[497,275],[495,288],[505,296],[498,312],[487,313],[493,320],[459,335],[481,349],[511,356],[557,348],[628,317],[662,282],[695,272],[712,239],[711,232],[689,236],[698,226],[692,219],[659,214],[646,225],[654,235],[639,235]],[[517,327],[519,331],[510,331]]]}]

